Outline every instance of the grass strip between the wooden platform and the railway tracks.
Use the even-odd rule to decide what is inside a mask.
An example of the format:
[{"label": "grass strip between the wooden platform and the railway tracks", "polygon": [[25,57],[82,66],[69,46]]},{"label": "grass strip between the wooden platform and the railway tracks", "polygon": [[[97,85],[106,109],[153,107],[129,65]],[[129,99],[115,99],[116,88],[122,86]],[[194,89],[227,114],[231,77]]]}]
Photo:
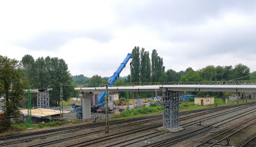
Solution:
[{"label": "grass strip between the wooden platform and the railway tracks", "polygon": [[[37,124],[32,124],[32,128],[44,128],[44,127],[54,127],[54,126],[59,126],[59,125],[64,125],[67,123],[78,123],[80,120],[75,119],[72,121],[63,121],[61,123],[60,121],[51,121],[48,123],[37,123]],[[28,123],[14,123],[12,124],[12,128],[14,130],[26,130],[28,128]]]}]

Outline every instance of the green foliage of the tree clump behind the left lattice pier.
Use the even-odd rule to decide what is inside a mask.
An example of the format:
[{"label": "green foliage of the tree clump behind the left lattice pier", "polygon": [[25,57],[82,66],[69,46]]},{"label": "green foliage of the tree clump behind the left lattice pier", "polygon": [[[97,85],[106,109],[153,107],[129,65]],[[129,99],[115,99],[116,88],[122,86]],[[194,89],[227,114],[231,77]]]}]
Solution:
[{"label": "green foliage of the tree clump behind the left lattice pier", "polygon": [[[50,91],[50,104],[60,105],[60,84],[63,83],[63,100],[67,100],[71,95],[76,95],[72,77],[68,71],[68,65],[63,59],[38,58],[36,61],[30,55],[25,55],[20,62],[22,71],[28,79],[31,88],[52,88]],[[32,101],[35,97],[31,97]]]}]

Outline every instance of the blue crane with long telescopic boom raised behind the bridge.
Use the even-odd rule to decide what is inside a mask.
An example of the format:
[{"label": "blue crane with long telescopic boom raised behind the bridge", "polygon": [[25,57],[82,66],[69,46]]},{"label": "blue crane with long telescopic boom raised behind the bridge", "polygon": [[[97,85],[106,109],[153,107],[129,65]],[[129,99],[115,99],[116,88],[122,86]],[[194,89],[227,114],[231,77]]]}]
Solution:
[{"label": "blue crane with long telescopic boom raised behind the bridge", "polygon": [[[127,64],[127,62],[129,61],[129,59],[132,58],[132,54],[129,53],[127,54],[127,57],[124,59],[124,61],[121,63],[121,65],[118,67],[118,69],[116,70],[116,72],[114,72],[114,74],[110,77],[108,83],[109,83],[109,86],[108,87],[111,87],[112,84],[114,84],[114,82],[116,81],[116,79],[119,77],[120,73],[122,72],[122,70],[124,69],[125,65]],[[109,93],[108,93],[109,94]],[[105,102],[102,102],[102,100],[104,99],[106,95],[106,91],[104,92],[100,92],[100,94],[98,95],[98,105],[97,107],[100,107],[100,106],[104,106],[106,104],[106,100]]]}]

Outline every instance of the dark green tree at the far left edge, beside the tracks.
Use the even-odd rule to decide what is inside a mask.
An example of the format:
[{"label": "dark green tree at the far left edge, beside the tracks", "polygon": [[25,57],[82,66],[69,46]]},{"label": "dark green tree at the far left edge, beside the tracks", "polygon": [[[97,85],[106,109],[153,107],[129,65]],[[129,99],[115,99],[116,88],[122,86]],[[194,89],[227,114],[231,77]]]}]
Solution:
[{"label": "dark green tree at the far left edge, beside the tracks", "polygon": [[10,119],[20,116],[20,100],[24,96],[26,81],[22,81],[19,61],[0,56],[0,95],[6,98],[3,107],[5,127],[10,126]]}]

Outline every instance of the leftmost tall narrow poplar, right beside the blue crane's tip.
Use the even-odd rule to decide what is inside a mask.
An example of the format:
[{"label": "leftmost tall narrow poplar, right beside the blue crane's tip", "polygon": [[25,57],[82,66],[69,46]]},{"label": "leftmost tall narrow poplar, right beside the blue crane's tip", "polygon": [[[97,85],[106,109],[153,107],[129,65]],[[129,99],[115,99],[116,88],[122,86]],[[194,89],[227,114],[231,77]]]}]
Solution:
[{"label": "leftmost tall narrow poplar, right beside the blue crane's tip", "polygon": [[132,82],[140,82],[140,47],[132,49],[131,79]]}]

